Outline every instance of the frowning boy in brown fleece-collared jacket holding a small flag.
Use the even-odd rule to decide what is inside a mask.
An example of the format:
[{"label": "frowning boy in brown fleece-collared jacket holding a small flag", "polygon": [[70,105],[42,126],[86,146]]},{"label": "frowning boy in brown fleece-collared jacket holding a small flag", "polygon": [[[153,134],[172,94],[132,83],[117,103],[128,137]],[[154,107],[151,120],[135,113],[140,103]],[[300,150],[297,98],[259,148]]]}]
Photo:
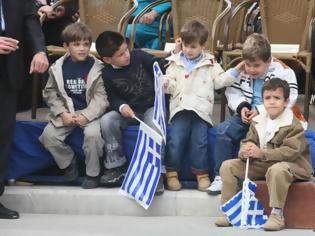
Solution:
[{"label": "frowning boy in brown fleece-collared jacket holding a small flag", "polygon": [[[283,208],[290,184],[295,180],[309,180],[312,176],[309,145],[304,129],[289,104],[289,84],[273,78],[265,82],[262,97],[265,111],[254,117],[247,137],[242,141],[240,159],[223,162],[220,169],[223,188],[221,203],[237,193],[239,179],[244,179],[246,159],[250,159],[248,177],[266,177],[269,205],[272,207],[267,231],[285,226]],[[217,218],[217,226],[229,226],[225,217]]]}]

